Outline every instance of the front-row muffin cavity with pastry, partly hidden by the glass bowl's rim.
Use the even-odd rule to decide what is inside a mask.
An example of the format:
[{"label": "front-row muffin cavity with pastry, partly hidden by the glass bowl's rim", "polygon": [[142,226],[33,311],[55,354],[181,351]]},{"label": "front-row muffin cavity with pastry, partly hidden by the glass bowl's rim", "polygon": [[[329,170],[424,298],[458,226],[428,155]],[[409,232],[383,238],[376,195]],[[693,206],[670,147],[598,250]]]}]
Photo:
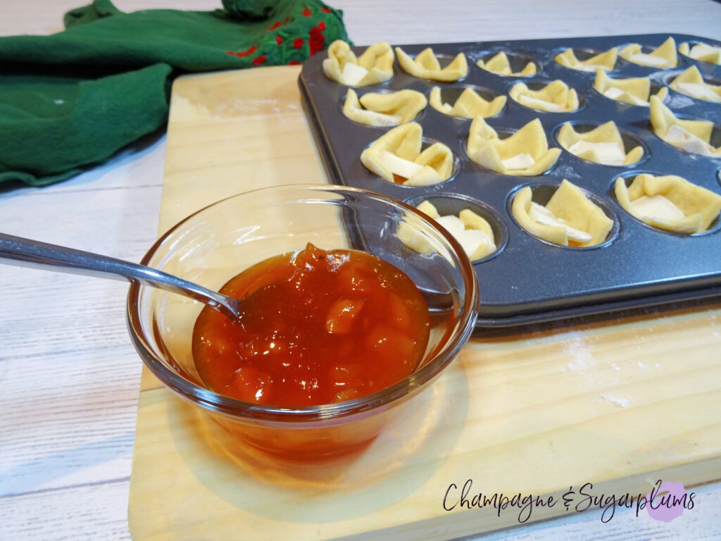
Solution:
[{"label": "front-row muffin cavity with pastry, partly hidden by the glass bowl's rim", "polygon": [[[406,202],[441,224],[474,263],[495,257],[508,241],[508,232],[500,216],[480,201],[454,193],[439,193]],[[410,245],[412,239],[404,239],[404,242]]]}]

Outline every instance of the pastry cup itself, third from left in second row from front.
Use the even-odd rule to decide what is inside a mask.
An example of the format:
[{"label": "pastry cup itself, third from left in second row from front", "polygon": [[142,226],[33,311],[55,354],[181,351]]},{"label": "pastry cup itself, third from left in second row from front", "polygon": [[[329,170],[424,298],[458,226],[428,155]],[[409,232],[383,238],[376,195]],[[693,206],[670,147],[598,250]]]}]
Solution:
[{"label": "pastry cup itself, third from left in second row from front", "polygon": [[558,131],[559,144],[579,158],[603,165],[631,165],[640,162],[643,147],[626,152],[621,132],[613,120],[579,133],[572,124],[564,123]]}]

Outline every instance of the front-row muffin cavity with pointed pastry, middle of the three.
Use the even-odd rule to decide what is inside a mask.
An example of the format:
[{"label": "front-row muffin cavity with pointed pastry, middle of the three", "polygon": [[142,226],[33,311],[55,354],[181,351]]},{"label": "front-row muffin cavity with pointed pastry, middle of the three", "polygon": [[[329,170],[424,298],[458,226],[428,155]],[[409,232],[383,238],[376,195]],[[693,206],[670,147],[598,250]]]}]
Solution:
[{"label": "front-row muffin cavity with pointed pastry, middle of the three", "polygon": [[510,195],[508,209],[518,226],[553,245],[590,248],[605,245],[619,231],[610,206],[568,180],[533,184]]}]

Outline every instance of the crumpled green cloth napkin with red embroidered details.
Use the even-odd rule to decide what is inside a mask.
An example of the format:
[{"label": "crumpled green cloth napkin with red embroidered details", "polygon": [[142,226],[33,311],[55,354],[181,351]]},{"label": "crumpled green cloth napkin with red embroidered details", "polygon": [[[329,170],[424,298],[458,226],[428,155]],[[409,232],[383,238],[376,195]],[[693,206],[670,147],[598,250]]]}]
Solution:
[{"label": "crumpled green cloth napkin with red embroidered details", "polygon": [[0,38],[0,182],[42,186],[107,160],[167,121],[180,74],[302,63],[348,41],[319,0],[224,0],[224,9],[65,15],[62,32]]}]

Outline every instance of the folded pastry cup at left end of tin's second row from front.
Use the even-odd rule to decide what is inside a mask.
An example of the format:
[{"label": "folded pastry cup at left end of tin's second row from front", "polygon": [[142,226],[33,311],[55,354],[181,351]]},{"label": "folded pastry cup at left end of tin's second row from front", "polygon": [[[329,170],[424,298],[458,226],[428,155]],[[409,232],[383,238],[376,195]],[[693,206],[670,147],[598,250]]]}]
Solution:
[{"label": "folded pastry cup at left end of tin's second row from front", "polygon": [[423,148],[423,128],[410,122],[392,128],[361,153],[361,163],[389,182],[427,186],[448,180],[454,156],[443,143]]}]

